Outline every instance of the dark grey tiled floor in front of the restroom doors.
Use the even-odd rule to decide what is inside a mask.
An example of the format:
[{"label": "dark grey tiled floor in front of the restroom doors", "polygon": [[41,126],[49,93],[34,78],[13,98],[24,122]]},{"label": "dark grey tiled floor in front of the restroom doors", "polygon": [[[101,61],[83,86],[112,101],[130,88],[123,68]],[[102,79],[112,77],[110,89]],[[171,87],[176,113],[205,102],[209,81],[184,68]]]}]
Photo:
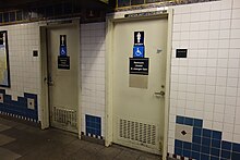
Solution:
[{"label": "dark grey tiled floor in front of the restroom doors", "polygon": [[[0,116],[0,159],[4,160],[159,160],[160,157],[123,146],[80,140],[56,128],[41,131]],[[3,130],[4,127],[4,130]],[[22,156],[22,157],[21,157]]]}]

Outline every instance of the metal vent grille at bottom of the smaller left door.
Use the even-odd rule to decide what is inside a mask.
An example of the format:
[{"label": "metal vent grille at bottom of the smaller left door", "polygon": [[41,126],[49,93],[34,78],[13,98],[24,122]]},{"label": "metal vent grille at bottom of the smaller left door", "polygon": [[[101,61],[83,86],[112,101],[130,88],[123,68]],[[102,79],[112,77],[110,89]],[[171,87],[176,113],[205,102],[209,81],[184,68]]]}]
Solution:
[{"label": "metal vent grille at bottom of the smaller left door", "polygon": [[52,115],[55,122],[76,127],[76,111],[55,107]]}]

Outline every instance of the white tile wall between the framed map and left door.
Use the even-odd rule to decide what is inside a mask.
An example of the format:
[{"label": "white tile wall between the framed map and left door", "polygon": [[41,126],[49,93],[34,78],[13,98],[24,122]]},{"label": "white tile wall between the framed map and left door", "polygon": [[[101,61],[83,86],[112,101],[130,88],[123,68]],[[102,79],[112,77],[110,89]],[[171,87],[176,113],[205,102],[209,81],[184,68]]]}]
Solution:
[{"label": "white tile wall between the framed map and left door", "polygon": [[40,58],[33,57],[39,50],[38,23],[0,26],[8,30],[11,88],[5,89],[13,100],[24,93],[38,95],[38,118],[40,120]]}]

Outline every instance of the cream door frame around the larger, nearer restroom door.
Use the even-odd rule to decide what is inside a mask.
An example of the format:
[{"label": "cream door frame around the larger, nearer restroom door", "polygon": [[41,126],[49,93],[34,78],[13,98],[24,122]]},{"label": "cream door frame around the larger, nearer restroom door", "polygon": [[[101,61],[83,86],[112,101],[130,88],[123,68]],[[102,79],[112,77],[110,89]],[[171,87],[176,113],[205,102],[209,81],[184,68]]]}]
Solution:
[{"label": "cream door frame around the larger, nearer restroom door", "polygon": [[[164,8],[165,10],[165,8]],[[153,12],[159,11],[159,8],[153,9]],[[166,10],[165,10],[166,11]],[[142,11],[135,11],[144,12]],[[146,12],[146,11],[145,11]],[[125,12],[128,13],[128,12]],[[131,12],[132,13],[132,12]],[[107,16],[106,20],[106,131],[105,131],[105,146],[110,146],[113,141],[113,29],[116,22],[131,22],[131,20],[146,20],[146,19],[163,19],[168,20],[168,37],[167,37],[167,66],[166,66],[166,90],[165,90],[165,122],[164,122],[164,144],[163,144],[163,159],[167,158],[168,151],[168,123],[169,123],[169,102],[170,102],[170,61],[171,61],[171,34],[172,34],[172,9],[168,9],[166,13],[142,16],[142,17],[124,17],[124,13],[117,13]]]}]

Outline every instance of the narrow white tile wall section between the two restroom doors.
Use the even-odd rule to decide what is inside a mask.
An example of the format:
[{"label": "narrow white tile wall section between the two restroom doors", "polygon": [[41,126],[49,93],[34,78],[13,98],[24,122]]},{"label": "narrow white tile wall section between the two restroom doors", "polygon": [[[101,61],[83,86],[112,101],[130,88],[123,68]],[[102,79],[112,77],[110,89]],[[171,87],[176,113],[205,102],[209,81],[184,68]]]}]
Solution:
[{"label": "narrow white tile wall section between the two restroom doors", "polygon": [[85,114],[101,118],[105,135],[105,23],[81,25],[82,132]]}]

